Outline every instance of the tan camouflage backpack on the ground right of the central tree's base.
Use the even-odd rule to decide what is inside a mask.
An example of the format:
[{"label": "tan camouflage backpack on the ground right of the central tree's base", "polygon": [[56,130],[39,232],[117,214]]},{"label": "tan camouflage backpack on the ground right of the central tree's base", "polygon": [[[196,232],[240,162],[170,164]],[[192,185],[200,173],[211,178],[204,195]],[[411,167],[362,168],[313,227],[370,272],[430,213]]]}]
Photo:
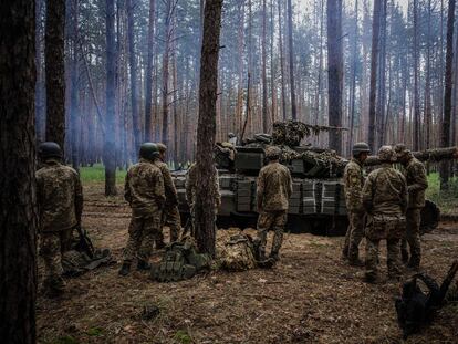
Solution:
[{"label": "tan camouflage backpack on the ground right of the central tree's base", "polygon": [[221,252],[221,268],[228,271],[244,271],[256,268],[252,241],[246,234],[230,237]]}]

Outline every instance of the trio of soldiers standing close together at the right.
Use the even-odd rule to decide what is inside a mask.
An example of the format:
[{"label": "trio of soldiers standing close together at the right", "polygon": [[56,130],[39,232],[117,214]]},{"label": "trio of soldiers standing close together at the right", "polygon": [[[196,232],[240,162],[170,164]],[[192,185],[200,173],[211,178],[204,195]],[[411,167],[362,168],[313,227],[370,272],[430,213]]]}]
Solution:
[{"label": "trio of soldiers standing close together at the right", "polygon": [[[350,226],[343,259],[351,265],[365,265],[365,280],[377,282],[379,242],[386,240],[391,279],[400,278],[400,261],[418,271],[421,260],[420,215],[428,187],[424,165],[404,144],[382,146],[378,150],[382,165],[365,177],[364,161],[371,149],[367,144],[358,143],[352,150],[353,158],[344,171]],[[394,168],[395,163],[400,163],[403,173]],[[358,252],[363,238],[366,239],[365,262]]]}]

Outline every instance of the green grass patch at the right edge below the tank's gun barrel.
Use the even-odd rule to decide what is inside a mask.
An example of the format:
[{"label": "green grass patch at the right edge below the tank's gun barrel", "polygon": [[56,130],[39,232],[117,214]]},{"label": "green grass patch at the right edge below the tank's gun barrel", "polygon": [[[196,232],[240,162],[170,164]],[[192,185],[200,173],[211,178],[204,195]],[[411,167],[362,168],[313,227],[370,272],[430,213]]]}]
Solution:
[{"label": "green grass patch at the right edge below the tank's gun barrel", "polygon": [[428,176],[428,188],[426,198],[433,200],[443,213],[458,212],[458,178],[449,180],[449,189],[440,190],[440,177],[438,173],[431,173]]}]

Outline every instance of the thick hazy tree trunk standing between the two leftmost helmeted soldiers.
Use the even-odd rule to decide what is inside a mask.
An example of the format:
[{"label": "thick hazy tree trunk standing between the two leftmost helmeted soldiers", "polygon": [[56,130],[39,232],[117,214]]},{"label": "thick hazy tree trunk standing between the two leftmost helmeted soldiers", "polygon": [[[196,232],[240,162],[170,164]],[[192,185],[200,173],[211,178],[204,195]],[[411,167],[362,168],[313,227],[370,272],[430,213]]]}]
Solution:
[{"label": "thick hazy tree trunk standing between the two leftmost helmeted soldiers", "polygon": [[105,165],[105,196],[115,196],[116,190],[116,150],[115,150],[115,6],[106,0],[106,114],[103,148]]}]

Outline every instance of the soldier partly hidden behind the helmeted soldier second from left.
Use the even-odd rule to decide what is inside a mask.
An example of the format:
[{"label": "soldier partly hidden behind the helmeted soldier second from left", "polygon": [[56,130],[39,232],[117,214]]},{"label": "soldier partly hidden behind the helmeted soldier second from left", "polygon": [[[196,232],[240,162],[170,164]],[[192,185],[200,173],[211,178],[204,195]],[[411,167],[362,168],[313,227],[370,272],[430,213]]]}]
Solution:
[{"label": "soldier partly hidden behind the helmeted soldier second from left", "polygon": [[162,228],[164,225],[166,225],[170,228],[170,242],[174,242],[178,240],[179,232],[181,230],[181,219],[178,211],[178,194],[177,189],[175,188],[174,180],[171,179],[170,171],[168,170],[167,164],[164,163],[167,147],[164,144],[157,144],[157,148],[159,149],[159,159],[155,161],[155,165],[160,169],[160,173],[163,174],[166,196],[159,237],[162,238],[160,241],[163,241],[164,236]]}]

